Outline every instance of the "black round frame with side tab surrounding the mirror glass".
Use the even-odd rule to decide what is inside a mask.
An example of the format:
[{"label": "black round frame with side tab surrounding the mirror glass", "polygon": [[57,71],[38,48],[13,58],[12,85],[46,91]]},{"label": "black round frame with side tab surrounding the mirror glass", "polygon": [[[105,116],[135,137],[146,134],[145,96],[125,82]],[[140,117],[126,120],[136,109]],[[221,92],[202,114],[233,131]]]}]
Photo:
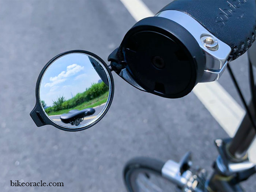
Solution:
[{"label": "black round frame with side tab surrounding the mirror glass", "polygon": [[[65,128],[60,126],[57,123],[54,123],[52,120],[50,120],[50,118],[48,117],[48,115],[46,115],[45,111],[42,109],[41,103],[39,101],[39,89],[40,89],[40,84],[41,84],[41,79],[45,73],[45,71],[48,69],[48,67],[53,63],[53,61],[55,61],[56,59],[58,59],[59,57],[64,56],[65,54],[69,54],[69,53],[85,53],[88,55],[91,55],[93,57],[95,57],[96,59],[98,59],[106,68],[106,70],[109,73],[109,77],[110,77],[110,99],[109,99],[109,103],[108,106],[106,107],[105,111],[101,114],[101,116],[94,121],[92,124],[87,125],[86,127],[80,127],[80,128]],[[36,88],[35,88],[35,97],[36,97],[36,103],[35,103],[35,107],[34,109],[30,112],[30,116],[33,119],[33,121],[35,122],[35,124],[37,125],[37,127],[41,127],[43,125],[53,125],[54,127],[61,129],[63,131],[71,131],[71,132],[75,132],[75,131],[83,131],[85,129],[88,129],[90,127],[92,127],[93,125],[97,124],[104,116],[105,114],[108,112],[110,105],[112,103],[113,97],[114,97],[114,80],[113,80],[113,75],[108,67],[108,65],[105,63],[105,61],[103,61],[99,56],[97,56],[94,53],[91,53],[89,51],[85,51],[85,50],[70,50],[64,53],[61,53],[55,57],[53,57],[53,59],[51,59],[42,69],[42,71],[40,72],[38,79],[37,79],[37,84],[36,84]]]}]

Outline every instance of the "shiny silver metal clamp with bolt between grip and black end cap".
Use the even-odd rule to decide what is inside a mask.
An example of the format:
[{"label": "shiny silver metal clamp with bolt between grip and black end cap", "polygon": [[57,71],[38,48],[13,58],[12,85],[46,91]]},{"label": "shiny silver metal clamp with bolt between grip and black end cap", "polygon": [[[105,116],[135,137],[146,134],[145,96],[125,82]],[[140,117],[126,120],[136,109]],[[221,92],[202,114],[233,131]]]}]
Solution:
[{"label": "shiny silver metal clamp with bolt between grip and black end cap", "polygon": [[166,10],[159,12],[159,17],[167,18],[178,23],[189,31],[196,39],[206,58],[204,74],[200,82],[212,82],[218,80],[227,66],[227,59],[231,48],[207,29],[197,20],[181,11]]}]

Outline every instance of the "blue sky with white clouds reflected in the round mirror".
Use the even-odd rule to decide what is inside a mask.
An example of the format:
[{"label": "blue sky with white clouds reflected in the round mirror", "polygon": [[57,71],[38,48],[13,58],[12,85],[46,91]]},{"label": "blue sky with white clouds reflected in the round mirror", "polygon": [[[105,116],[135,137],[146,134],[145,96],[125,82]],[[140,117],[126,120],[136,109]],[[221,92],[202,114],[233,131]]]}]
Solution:
[{"label": "blue sky with white clouds reflected in the round mirror", "polygon": [[45,72],[40,99],[45,101],[46,106],[52,106],[57,98],[64,96],[66,100],[70,99],[99,80],[101,78],[86,54],[70,53],[55,60]]}]

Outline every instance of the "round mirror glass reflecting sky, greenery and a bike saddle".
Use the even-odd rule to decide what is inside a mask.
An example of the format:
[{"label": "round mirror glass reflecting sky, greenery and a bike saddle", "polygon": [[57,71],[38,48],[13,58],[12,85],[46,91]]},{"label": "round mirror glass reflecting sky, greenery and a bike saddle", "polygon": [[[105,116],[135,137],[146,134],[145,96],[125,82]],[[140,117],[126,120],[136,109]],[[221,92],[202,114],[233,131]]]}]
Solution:
[{"label": "round mirror glass reflecting sky, greenery and a bike saddle", "polygon": [[54,123],[80,128],[95,122],[110,101],[106,67],[85,53],[68,53],[54,60],[39,87],[41,107]]}]

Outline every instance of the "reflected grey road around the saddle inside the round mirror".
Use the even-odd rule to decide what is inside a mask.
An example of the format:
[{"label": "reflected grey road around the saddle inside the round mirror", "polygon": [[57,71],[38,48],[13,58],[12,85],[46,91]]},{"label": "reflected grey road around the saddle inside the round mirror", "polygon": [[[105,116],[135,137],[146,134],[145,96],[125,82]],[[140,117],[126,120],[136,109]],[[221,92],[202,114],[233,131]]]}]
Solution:
[{"label": "reflected grey road around the saddle inside the round mirror", "polygon": [[[86,124],[89,121],[93,120],[94,118],[96,118],[98,116],[98,114],[102,111],[102,109],[104,108],[104,105],[99,105],[94,107],[95,109],[95,113],[90,115],[90,116],[86,116],[83,118],[83,121],[80,122],[80,125]],[[61,125],[65,125],[65,126],[69,126],[69,127],[76,127],[76,125],[71,125],[71,124],[66,124],[63,123],[60,119],[61,115],[51,115],[49,116],[53,121],[55,121],[56,123],[59,123]]]}]

